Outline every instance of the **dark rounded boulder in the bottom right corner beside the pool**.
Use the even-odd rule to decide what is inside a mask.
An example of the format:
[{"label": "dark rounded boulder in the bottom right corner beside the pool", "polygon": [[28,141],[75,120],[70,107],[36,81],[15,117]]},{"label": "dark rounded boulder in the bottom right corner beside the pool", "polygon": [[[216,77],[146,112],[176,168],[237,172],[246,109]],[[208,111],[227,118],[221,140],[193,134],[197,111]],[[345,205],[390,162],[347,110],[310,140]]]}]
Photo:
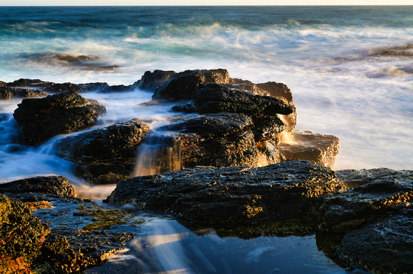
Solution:
[{"label": "dark rounded boulder in the bottom right corner beside the pool", "polygon": [[413,269],[413,207],[347,234],[337,249],[345,263],[374,273]]}]

